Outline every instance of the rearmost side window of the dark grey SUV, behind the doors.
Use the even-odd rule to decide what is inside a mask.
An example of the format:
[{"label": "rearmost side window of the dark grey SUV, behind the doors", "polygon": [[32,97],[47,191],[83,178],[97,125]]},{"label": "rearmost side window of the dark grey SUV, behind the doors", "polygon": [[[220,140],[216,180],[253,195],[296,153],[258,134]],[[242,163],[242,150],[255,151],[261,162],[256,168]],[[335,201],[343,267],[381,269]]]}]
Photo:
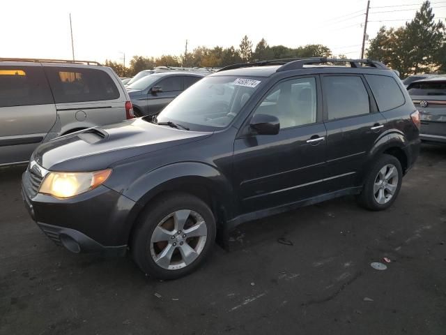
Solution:
[{"label": "rearmost side window of the dark grey SUV, behind the doors", "polygon": [[403,92],[394,78],[385,75],[365,75],[365,77],[380,112],[393,110],[406,103]]}]

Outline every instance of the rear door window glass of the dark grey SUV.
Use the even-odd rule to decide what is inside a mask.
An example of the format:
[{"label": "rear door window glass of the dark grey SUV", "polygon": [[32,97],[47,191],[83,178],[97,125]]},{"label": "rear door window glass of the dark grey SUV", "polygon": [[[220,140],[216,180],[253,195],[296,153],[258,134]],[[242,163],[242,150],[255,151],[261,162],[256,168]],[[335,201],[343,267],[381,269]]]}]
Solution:
[{"label": "rear door window glass of the dark grey SUV", "polygon": [[323,77],[323,96],[328,119],[368,114],[369,94],[361,77],[328,75]]}]

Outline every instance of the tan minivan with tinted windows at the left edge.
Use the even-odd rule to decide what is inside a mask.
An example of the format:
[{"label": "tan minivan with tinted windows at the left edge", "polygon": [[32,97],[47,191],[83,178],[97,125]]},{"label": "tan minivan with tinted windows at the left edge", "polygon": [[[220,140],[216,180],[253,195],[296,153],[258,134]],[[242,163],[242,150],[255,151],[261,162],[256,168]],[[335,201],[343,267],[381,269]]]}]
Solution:
[{"label": "tan minivan with tinted windows at the left edge", "polygon": [[38,144],[56,136],[132,117],[128,93],[111,68],[0,59],[0,166],[27,163]]}]

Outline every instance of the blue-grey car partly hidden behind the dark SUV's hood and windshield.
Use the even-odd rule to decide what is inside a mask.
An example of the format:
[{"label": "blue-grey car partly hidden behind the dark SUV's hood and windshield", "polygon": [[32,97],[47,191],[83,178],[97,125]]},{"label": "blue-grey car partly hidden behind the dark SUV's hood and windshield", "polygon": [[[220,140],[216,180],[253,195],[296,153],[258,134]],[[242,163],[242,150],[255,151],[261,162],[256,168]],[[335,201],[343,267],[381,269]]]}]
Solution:
[{"label": "blue-grey car partly hidden behind the dark SUV's hood and windshield", "polygon": [[169,71],[142,77],[127,87],[134,114],[142,117],[161,112],[178,94],[204,76],[203,73]]}]

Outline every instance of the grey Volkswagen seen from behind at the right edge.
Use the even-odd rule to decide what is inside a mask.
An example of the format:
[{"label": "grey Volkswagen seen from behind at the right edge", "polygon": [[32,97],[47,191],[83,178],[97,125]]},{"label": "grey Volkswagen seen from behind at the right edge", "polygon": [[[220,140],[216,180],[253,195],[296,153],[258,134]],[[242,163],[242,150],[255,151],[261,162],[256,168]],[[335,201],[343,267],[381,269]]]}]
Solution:
[{"label": "grey Volkswagen seen from behind at the right edge", "polygon": [[410,98],[420,111],[420,138],[446,143],[446,76],[436,75],[409,84]]}]

